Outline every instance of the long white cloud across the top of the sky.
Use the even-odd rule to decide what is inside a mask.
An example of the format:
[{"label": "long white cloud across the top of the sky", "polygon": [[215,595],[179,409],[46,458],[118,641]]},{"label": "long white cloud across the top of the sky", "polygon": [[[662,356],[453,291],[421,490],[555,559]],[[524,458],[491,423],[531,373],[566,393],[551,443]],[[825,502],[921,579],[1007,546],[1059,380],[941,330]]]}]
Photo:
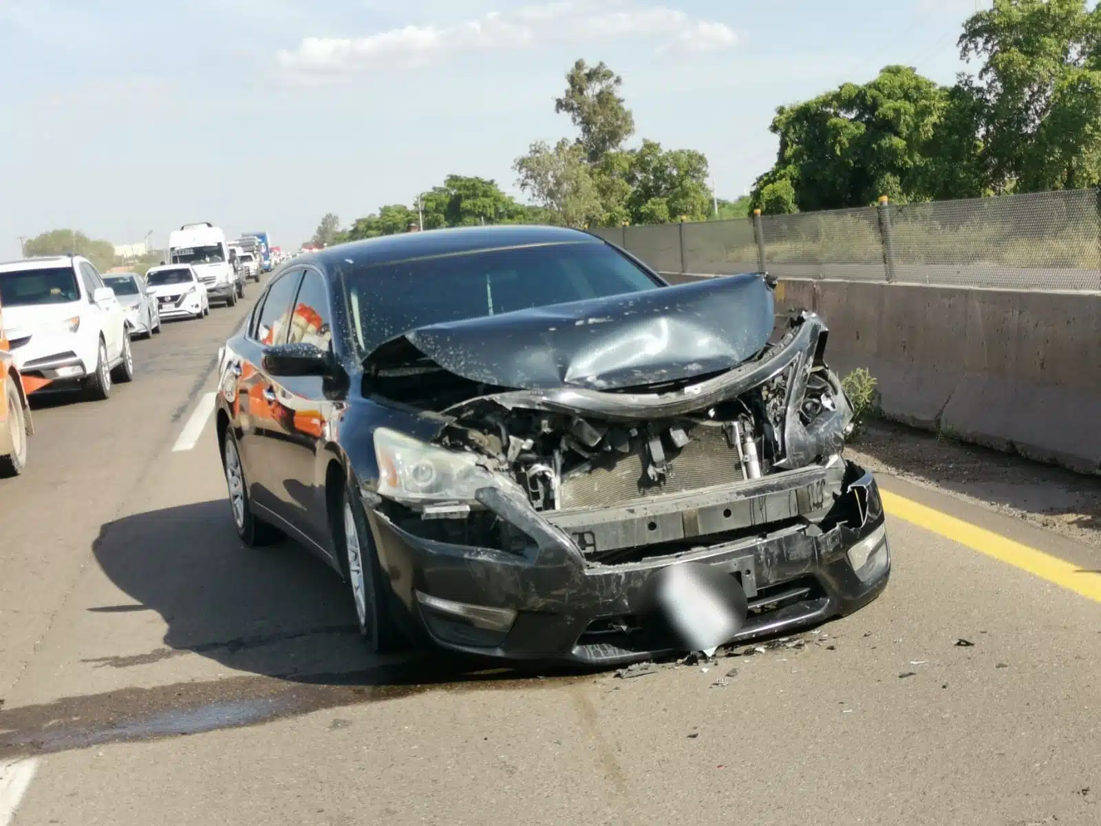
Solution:
[{"label": "long white cloud across the top of the sky", "polygon": [[465,53],[614,40],[643,41],[656,52],[704,52],[730,47],[738,34],[726,23],[634,0],[562,0],[490,12],[456,25],[407,25],[363,37],[306,37],[297,48],[281,51],[279,61],[301,77],[336,79]]}]

